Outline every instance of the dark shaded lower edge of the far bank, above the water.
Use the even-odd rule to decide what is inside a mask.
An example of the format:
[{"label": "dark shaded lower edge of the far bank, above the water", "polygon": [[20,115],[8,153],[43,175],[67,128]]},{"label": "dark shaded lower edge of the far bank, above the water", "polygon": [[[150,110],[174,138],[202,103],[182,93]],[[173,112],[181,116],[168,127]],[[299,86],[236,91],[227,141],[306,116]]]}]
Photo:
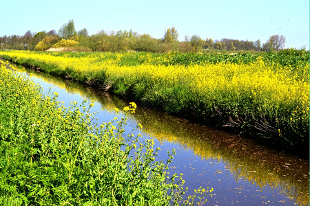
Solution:
[{"label": "dark shaded lower edge of the far bank, above the water", "polygon": [[[218,128],[220,130],[225,130],[230,133],[234,133],[237,135],[241,135],[242,137],[247,137],[251,139],[255,139],[260,144],[264,144],[265,146],[268,146],[269,148],[276,149],[276,150],[283,150],[285,152],[291,153],[293,155],[298,155],[302,158],[309,159],[309,130],[308,135],[304,133],[302,136],[302,139],[294,138],[294,140],[298,140],[296,142],[293,141],[287,141],[287,139],[283,137],[279,137],[278,133],[268,133],[261,135],[262,131],[258,130],[254,127],[254,124],[250,125],[243,125],[238,122],[234,121],[234,118],[232,118],[231,113],[234,111],[227,111],[226,108],[214,108],[212,111],[208,111],[207,113],[205,111],[196,110],[193,111],[192,108],[195,107],[195,105],[191,105],[188,108],[182,109],[181,111],[167,111],[165,106],[165,102],[149,102],[147,100],[143,100],[143,95],[134,93],[134,89],[131,85],[125,85],[125,91],[119,90],[119,85],[117,83],[120,83],[120,81],[116,81],[116,84],[113,85],[106,85],[106,82],[108,80],[105,80],[105,77],[96,77],[98,74],[96,73],[96,76],[94,76],[92,81],[87,80],[80,80],[79,78],[74,78],[73,72],[70,73],[70,70],[66,70],[63,73],[59,73],[56,68],[51,69],[45,62],[39,62],[39,61],[33,61],[29,59],[23,59],[23,58],[14,58],[14,56],[6,56],[3,55],[2,58],[5,58],[6,60],[10,60],[11,62],[14,62],[18,65],[23,65],[24,67],[28,67],[30,69],[35,69],[37,71],[44,71],[47,73],[52,73],[57,76],[62,76],[63,78],[69,78],[72,80],[75,80],[77,82],[83,83],[83,84],[89,84],[92,87],[97,87],[100,89],[105,89],[105,91],[113,93],[114,95],[118,95],[121,98],[125,98],[129,101],[134,101],[136,104],[140,106],[144,106],[147,108],[152,108],[157,111],[163,111],[165,113],[170,113],[172,115],[176,115],[179,117],[185,117],[187,119],[192,120],[193,122],[200,123],[200,124],[206,124],[208,126]],[[46,68],[45,68],[46,67]],[[52,65],[52,67],[55,67]],[[105,76],[104,73],[101,72],[101,75]],[[123,87],[124,84],[121,82],[121,87]],[[169,104],[170,102],[166,102]],[[190,102],[190,104],[195,104],[195,102]],[[200,102],[201,104],[201,102]],[[225,111],[226,109],[226,111]],[[251,121],[251,113],[242,116],[238,115],[238,118],[245,119],[247,121]],[[207,118],[206,118],[207,117]],[[253,119],[252,119],[253,120]],[[274,130],[274,129],[273,129]],[[258,135],[258,132],[260,132],[260,135]],[[269,131],[270,132],[270,131]],[[291,132],[292,135],[294,135],[293,131]],[[300,134],[298,135],[300,136]],[[307,137],[306,137],[307,136]]]}]

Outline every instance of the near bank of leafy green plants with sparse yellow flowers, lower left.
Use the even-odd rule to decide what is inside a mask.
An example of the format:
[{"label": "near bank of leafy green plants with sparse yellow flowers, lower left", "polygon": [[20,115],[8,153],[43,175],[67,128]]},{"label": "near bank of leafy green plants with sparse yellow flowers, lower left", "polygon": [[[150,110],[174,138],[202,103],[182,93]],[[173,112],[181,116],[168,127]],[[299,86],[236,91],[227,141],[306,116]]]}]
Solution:
[{"label": "near bank of leafy green plants with sparse yellow flowers, lower left", "polygon": [[[126,119],[94,126],[0,62],[1,205],[190,205],[183,179],[155,161],[152,140],[123,137]],[[136,106],[130,104],[130,111]],[[125,108],[125,110],[127,110]],[[83,110],[83,112],[82,112]],[[199,190],[204,196],[209,191]]]}]

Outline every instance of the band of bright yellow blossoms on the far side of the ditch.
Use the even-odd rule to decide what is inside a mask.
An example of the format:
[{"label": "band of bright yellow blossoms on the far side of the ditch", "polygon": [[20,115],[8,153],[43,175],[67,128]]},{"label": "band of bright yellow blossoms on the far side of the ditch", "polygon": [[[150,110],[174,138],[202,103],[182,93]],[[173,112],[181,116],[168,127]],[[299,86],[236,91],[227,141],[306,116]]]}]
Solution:
[{"label": "band of bright yellow blossoms on the far side of the ditch", "polygon": [[[145,54],[141,65],[127,66],[118,62],[130,54],[91,53],[74,56],[70,53],[0,52],[0,56],[4,55],[9,55],[16,62],[32,60],[53,65],[58,70],[54,73],[68,73],[69,77],[85,82],[96,82],[96,78],[101,78],[104,73],[106,84],[123,79],[124,84],[133,82],[136,87],[146,84],[158,84],[168,90],[180,87],[184,92],[194,93],[197,101],[207,104],[248,99],[261,111],[278,111],[278,108],[288,110],[292,113],[292,122],[300,118],[309,119],[309,78],[305,81],[298,79],[297,74],[287,75],[289,68],[267,66],[262,58],[248,64],[219,62],[165,66],[154,64],[157,60]],[[309,64],[302,69],[309,71]]]}]

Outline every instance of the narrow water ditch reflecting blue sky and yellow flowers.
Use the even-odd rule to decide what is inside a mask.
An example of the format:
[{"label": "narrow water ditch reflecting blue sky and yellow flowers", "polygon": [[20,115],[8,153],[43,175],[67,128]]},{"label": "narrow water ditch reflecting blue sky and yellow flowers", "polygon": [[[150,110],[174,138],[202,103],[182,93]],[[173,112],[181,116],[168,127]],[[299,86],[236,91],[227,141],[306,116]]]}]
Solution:
[{"label": "narrow water ditch reflecting blue sky and yellow flowers", "polygon": [[[59,93],[65,106],[70,102],[94,101],[98,122],[110,122],[114,108],[128,106],[108,93],[71,80],[36,71],[25,73],[44,92]],[[122,114],[121,114],[122,115]],[[309,161],[264,148],[249,139],[193,124],[150,108],[138,106],[130,116],[126,130],[143,125],[143,138],[154,138],[154,148],[162,149],[158,161],[167,159],[167,151],[176,149],[169,172],[183,173],[189,194],[198,187],[213,187],[207,205],[309,205]],[[139,133],[136,131],[135,133]]]}]

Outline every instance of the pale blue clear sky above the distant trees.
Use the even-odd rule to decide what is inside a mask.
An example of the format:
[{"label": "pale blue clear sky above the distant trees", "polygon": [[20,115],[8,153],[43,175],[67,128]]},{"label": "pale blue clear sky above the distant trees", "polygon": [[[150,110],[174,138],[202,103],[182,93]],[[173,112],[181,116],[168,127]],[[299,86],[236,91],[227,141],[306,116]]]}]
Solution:
[{"label": "pale blue clear sky above the distant trees", "polygon": [[309,0],[10,0],[1,2],[0,36],[58,32],[70,19],[90,35],[132,29],[163,38],[175,27],[179,41],[196,34],[266,43],[279,34],[286,48],[309,49]]}]

